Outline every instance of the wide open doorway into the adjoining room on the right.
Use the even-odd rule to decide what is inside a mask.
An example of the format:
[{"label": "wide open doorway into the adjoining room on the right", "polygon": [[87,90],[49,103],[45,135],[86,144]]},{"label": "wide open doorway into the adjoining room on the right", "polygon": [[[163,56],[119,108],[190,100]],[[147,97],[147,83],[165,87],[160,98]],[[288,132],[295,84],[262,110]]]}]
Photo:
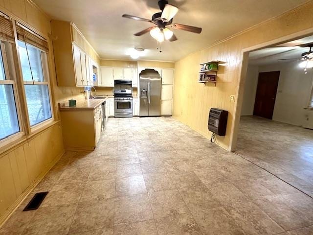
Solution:
[{"label": "wide open doorway into the adjoining room on the right", "polygon": [[235,153],[313,197],[313,36],[248,54]]}]

